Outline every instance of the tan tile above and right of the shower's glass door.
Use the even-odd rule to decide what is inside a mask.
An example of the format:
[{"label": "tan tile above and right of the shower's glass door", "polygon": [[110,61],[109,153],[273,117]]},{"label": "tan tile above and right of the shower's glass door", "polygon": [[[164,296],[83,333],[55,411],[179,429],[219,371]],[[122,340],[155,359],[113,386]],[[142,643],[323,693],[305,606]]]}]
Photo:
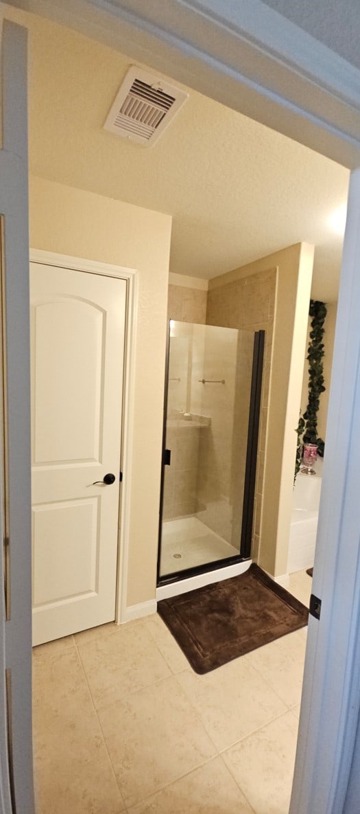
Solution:
[{"label": "tan tile above and right of the shower's glass door", "polygon": [[208,325],[239,330],[265,330],[262,401],[255,486],[253,558],[257,558],[261,536],[262,495],[267,443],[268,398],[271,377],[271,347],[274,328],[276,269],[249,275],[213,288],[207,296]]}]

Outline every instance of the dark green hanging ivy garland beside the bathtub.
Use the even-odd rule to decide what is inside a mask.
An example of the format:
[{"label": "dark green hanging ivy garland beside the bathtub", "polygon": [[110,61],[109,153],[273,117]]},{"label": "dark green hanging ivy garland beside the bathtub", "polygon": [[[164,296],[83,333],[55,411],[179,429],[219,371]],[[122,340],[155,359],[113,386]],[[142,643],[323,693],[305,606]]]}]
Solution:
[{"label": "dark green hanging ivy garland beside the bathtub", "polygon": [[[320,457],[323,457],[324,441],[318,436],[318,410],[321,393],[326,389],[323,383],[323,334],[326,305],[319,300],[310,300],[311,317],[310,343],[307,352],[309,362],[309,396],[306,412],[300,415],[297,425],[297,458],[295,478],[301,466],[303,444],[316,444]],[[295,479],[294,479],[295,482]]]}]

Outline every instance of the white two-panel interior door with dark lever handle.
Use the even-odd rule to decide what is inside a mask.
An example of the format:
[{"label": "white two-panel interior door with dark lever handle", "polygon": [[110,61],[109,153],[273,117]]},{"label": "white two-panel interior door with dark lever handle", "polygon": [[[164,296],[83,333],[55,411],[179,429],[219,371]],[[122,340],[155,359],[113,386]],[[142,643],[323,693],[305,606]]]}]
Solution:
[{"label": "white two-panel interior door with dark lever handle", "polygon": [[40,644],[115,619],[126,282],[32,263],[30,292]]}]

